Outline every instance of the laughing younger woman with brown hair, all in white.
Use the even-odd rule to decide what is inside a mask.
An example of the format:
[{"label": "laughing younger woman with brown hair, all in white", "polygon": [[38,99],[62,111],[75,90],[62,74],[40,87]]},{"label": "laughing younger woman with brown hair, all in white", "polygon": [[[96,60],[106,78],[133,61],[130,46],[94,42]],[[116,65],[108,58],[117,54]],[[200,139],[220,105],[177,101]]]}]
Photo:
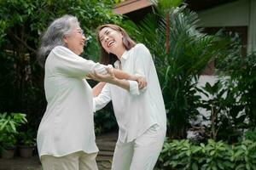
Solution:
[{"label": "laughing younger woman with brown hair, all in white", "polygon": [[[148,83],[140,90],[137,82],[131,82],[129,92],[109,83],[99,83],[93,89],[96,110],[112,100],[119,125],[112,169],[151,170],[166,136],[166,110],[154,61],[148,48],[132,41],[119,26],[99,26],[97,34],[102,64],[143,76]],[[105,76],[96,74],[94,78],[101,81]]]}]

